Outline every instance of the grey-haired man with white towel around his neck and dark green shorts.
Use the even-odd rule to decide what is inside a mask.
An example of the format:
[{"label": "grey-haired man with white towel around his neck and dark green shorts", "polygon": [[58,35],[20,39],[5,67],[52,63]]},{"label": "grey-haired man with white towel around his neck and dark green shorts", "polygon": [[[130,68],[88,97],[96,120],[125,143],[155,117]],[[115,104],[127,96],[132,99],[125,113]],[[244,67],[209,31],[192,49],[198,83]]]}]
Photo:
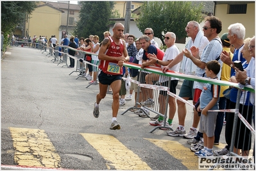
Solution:
[{"label": "grey-haired man with white towel around his neck and dark green shorts", "polygon": [[[196,21],[190,21],[187,23],[187,26],[185,28],[185,31],[187,32],[187,37],[191,37],[191,40],[187,42],[185,45],[185,48],[190,49],[192,46],[198,47],[198,59],[200,59],[201,53],[203,52],[203,49],[205,46],[209,43],[209,40],[203,36],[203,32],[200,30],[200,25]],[[169,63],[166,67],[163,67],[163,72],[166,72],[166,70],[170,69],[177,63],[181,63],[181,68],[183,74],[187,75],[195,75],[196,74],[196,64],[192,62],[190,58],[187,58],[183,52],[178,54],[176,58]],[[180,94],[179,96],[185,99],[186,101],[189,99],[193,99],[194,97],[194,89],[193,89],[194,81],[184,80],[182,83],[182,87],[180,88]],[[198,117],[198,113],[194,111],[194,120],[192,127],[189,131],[189,133],[186,134],[185,132],[185,117],[187,114],[187,109],[185,106],[185,103],[182,101],[176,101],[178,105],[178,128],[173,132],[169,133],[171,136],[183,136],[184,138],[194,138],[196,136],[196,128],[198,127],[198,123],[200,121],[200,117]],[[192,142],[188,143],[197,143],[198,140],[193,140]]]}]

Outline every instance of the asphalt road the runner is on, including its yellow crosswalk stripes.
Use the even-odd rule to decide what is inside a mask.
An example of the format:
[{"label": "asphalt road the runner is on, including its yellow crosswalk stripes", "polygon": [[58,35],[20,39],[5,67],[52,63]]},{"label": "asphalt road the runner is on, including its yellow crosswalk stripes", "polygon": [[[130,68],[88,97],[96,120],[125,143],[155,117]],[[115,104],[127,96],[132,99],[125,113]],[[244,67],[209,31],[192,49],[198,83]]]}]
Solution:
[{"label": "asphalt road the runner is on, including its yellow crosswalk stripes", "polygon": [[[120,115],[128,107],[133,106],[133,100],[128,101],[126,106],[119,109],[117,121],[121,125],[120,130],[109,129],[112,119],[111,94],[107,94],[101,101],[99,118],[94,118],[92,110],[99,91],[98,85],[86,88],[89,81],[85,78],[76,79],[78,72],[69,75],[74,69],[62,67],[63,64],[57,65],[58,62],[53,63],[51,61],[53,57],[48,57],[42,52],[28,47],[10,47],[1,61],[2,169],[19,164],[17,161],[21,161],[21,158],[17,159],[17,151],[21,152],[20,154],[30,155],[31,151],[36,151],[32,147],[38,147],[38,143],[46,147],[46,142],[42,142],[46,139],[49,139],[54,147],[51,155],[58,154],[60,158],[55,157],[58,163],[56,168],[76,170],[196,169],[195,163],[198,160],[189,150],[190,145],[186,143],[186,139],[167,136],[166,131],[160,129],[149,133],[153,129],[149,125],[149,118],[138,117],[130,111]],[[181,83],[177,86],[178,91],[180,85]],[[187,111],[185,128],[189,130],[192,124],[192,108],[187,106]],[[151,113],[151,116],[155,114]],[[177,115],[175,115],[173,125],[178,126]],[[221,143],[225,143],[224,133],[225,127],[223,127]],[[15,135],[17,138],[13,138]],[[33,136],[37,137],[32,140]],[[30,138],[30,140],[18,140],[22,137]],[[19,143],[30,141],[34,141],[33,145],[30,143],[30,149],[22,152],[28,145],[22,146]],[[169,149],[166,149],[167,145]],[[221,148],[223,145],[214,148]],[[119,151],[122,152],[132,151],[130,156],[135,155],[134,160],[128,161],[127,159],[128,164],[120,164],[128,165],[128,167],[118,167],[118,163],[115,163],[115,161],[119,162],[119,159],[126,161],[123,157],[128,152],[115,153],[114,161],[108,158],[111,152],[107,152],[108,155],[105,156],[104,151],[107,149],[112,151],[115,146],[120,146]],[[19,149],[20,147],[22,149]],[[37,158],[40,157],[38,154]],[[143,166],[133,168],[136,161],[141,162]],[[40,162],[42,162],[42,168],[52,168],[43,161]],[[28,165],[28,167],[31,166]]]}]

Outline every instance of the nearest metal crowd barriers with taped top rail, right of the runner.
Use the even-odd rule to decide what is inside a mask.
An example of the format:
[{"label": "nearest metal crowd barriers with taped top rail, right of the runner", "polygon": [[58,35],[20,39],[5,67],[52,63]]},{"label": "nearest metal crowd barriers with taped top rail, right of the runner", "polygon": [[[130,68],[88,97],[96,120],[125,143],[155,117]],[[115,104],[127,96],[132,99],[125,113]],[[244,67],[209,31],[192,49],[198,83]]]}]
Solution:
[{"label": "nearest metal crowd barriers with taped top rail, right of the runner", "polygon": [[[153,101],[155,102],[155,104],[154,104],[155,106],[151,106],[151,107],[143,106],[143,107],[146,108],[149,111],[153,111],[157,115],[160,115],[160,116],[164,117],[164,123],[166,122],[167,108],[164,110],[164,112],[159,113],[158,112],[159,106],[158,106],[158,103],[156,103],[158,101],[158,99],[157,99],[158,98],[158,92],[157,91],[160,90],[163,87],[162,86],[156,86],[156,85],[147,85],[147,84],[145,85],[144,84],[144,77],[141,76],[143,72],[149,72],[149,73],[155,73],[155,74],[162,75],[162,76],[178,77],[178,78],[181,78],[181,79],[187,79],[187,80],[191,80],[191,81],[198,81],[198,82],[201,82],[201,83],[210,83],[212,85],[228,85],[228,86],[236,87],[238,89],[238,93],[237,93],[237,102],[236,102],[235,109],[218,110],[218,111],[224,111],[224,112],[232,112],[233,113],[232,115],[234,115],[234,125],[233,125],[233,129],[232,129],[232,142],[231,142],[230,149],[229,149],[229,151],[230,151],[229,155],[238,156],[235,152],[233,152],[234,145],[236,145],[236,147],[238,147],[238,145],[239,145],[238,143],[241,143],[241,142],[237,141],[237,144],[235,144],[235,134],[236,133],[237,133],[237,136],[238,136],[239,139],[242,138],[242,140],[243,140],[242,143],[245,143],[246,141],[248,141],[248,140],[246,140],[246,138],[244,136],[244,134],[248,133],[248,131],[250,131],[250,134],[253,134],[253,137],[255,136],[255,129],[253,129],[253,127],[252,127],[252,122],[254,122],[253,116],[255,115],[255,106],[253,105],[253,106],[250,107],[250,108],[252,108],[252,110],[248,110],[248,108],[247,108],[246,111],[245,111],[246,114],[243,114],[244,117],[243,117],[243,115],[241,115],[241,113],[239,113],[239,107],[240,107],[240,110],[243,110],[246,107],[243,104],[239,104],[240,99],[241,99],[241,92],[243,91],[244,93],[246,93],[246,92],[249,91],[249,92],[251,92],[250,95],[254,94],[255,90],[252,88],[252,86],[250,86],[250,85],[249,86],[244,86],[243,90],[241,90],[241,88],[239,88],[238,83],[230,83],[230,82],[227,82],[227,81],[208,79],[208,78],[205,78],[205,77],[189,76],[189,75],[185,75],[185,74],[180,74],[178,72],[173,72],[171,70],[168,70],[166,72],[166,74],[164,74],[164,73],[162,73],[162,70],[160,68],[157,68],[157,67],[146,67],[144,70],[142,70],[140,65],[137,65],[137,64],[134,64],[134,63],[124,63],[124,66],[140,70],[139,77],[141,77],[141,79],[139,79],[139,82],[136,82],[136,81],[133,81],[132,79],[130,79],[130,81],[133,81],[134,83],[137,83],[139,85],[139,88],[137,90],[138,95],[137,95],[137,99],[136,99],[136,106],[128,108],[126,111],[121,113],[121,115],[124,115],[124,113],[131,110],[132,108],[138,109],[137,105],[141,105],[141,103],[139,102],[139,94],[141,93],[140,89],[142,87],[145,87],[145,88],[152,89],[153,92],[155,92],[153,94],[153,97],[154,97]],[[126,79],[126,78],[124,78],[124,79]],[[169,83],[170,83],[170,81],[169,81]],[[169,87],[169,85],[167,87]],[[176,99],[179,99],[180,101],[182,101],[182,98],[178,97],[178,95],[171,94],[171,92],[169,92],[168,89],[167,89],[167,94],[171,95],[172,97],[175,97]],[[193,104],[190,104],[187,101],[183,101],[183,102],[185,102],[186,104],[189,104],[190,106],[194,107]],[[168,103],[166,101],[166,106],[168,106],[167,104]],[[147,115],[146,111],[144,111],[144,113]],[[231,115],[230,113],[228,113],[228,114]],[[149,115],[148,115],[148,117],[149,117]],[[251,122],[249,123],[249,122],[247,122],[247,120],[250,120]],[[239,130],[238,131],[236,130],[237,123],[239,123],[239,127],[238,127]],[[247,128],[246,128],[246,130],[244,130],[242,132],[241,128],[245,127],[245,126]],[[155,131],[155,129],[157,129],[157,128],[159,128],[159,127],[155,127],[154,129],[152,129],[150,131],[150,133]],[[254,140],[252,140],[252,144],[253,144],[252,147],[254,147],[255,138],[252,138],[252,139],[254,139]],[[253,154],[254,154],[254,149],[253,149]]]}]

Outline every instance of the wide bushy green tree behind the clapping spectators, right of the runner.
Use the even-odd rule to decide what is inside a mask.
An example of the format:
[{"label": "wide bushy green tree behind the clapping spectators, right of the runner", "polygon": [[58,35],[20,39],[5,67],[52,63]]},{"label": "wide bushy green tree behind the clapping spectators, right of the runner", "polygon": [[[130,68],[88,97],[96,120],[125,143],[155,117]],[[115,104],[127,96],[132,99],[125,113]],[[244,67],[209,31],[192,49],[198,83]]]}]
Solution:
[{"label": "wide bushy green tree behind the clapping spectators, right of the runner", "polygon": [[191,6],[191,1],[148,1],[142,4],[141,15],[135,21],[142,33],[145,28],[152,28],[154,36],[162,42],[167,31],[172,31],[180,39],[186,36],[187,22],[196,20],[200,23],[203,20],[203,5]]}]

